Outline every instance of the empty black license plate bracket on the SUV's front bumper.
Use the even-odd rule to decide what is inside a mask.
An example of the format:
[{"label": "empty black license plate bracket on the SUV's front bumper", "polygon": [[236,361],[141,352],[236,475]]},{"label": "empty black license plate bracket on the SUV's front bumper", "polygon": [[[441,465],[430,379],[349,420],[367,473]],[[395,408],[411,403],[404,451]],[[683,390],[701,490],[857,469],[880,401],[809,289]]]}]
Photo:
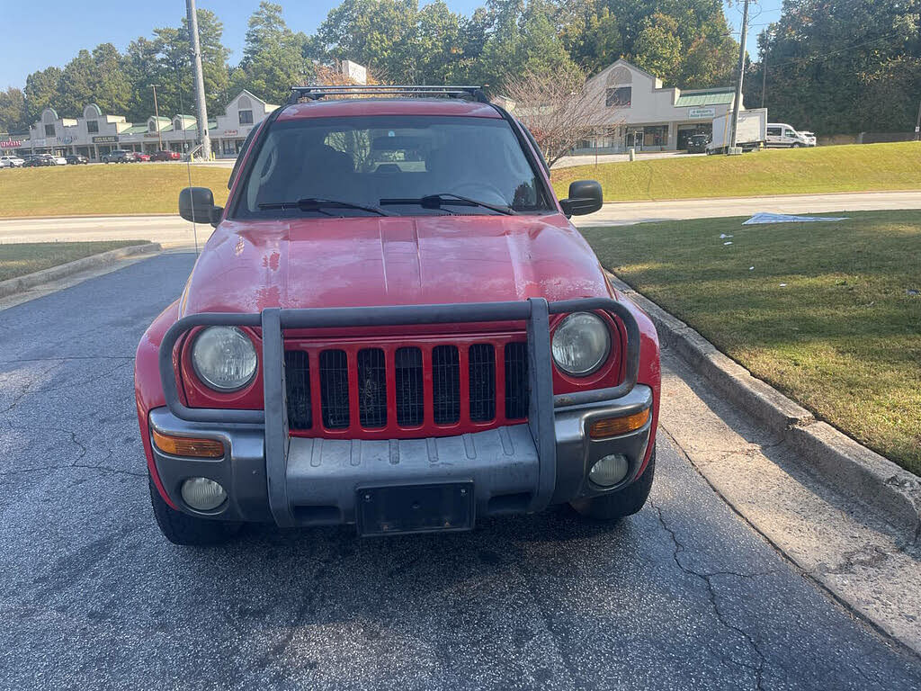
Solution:
[{"label": "empty black license plate bracket on the SUV's front bumper", "polygon": [[473,518],[472,482],[356,490],[356,527],[361,536],[468,531]]}]

